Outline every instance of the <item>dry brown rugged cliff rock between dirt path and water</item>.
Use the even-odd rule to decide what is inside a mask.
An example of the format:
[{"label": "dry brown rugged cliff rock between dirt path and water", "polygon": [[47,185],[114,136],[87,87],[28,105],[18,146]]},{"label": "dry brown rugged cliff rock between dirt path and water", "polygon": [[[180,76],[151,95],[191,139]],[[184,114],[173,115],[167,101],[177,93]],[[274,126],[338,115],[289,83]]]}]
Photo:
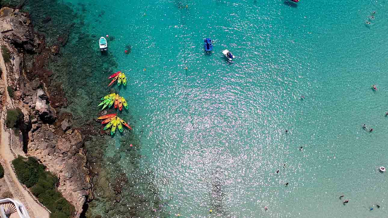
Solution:
[{"label": "dry brown rugged cliff rock between dirt path and water", "polygon": [[45,69],[47,59],[59,48],[46,48],[44,36],[33,31],[29,15],[17,9],[0,10],[0,34],[7,68],[3,72],[8,80],[5,85],[14,89],[14,107],[24,113],[22,136],[13,145],[19,148],[14,151],[38,158],[59,177],[58,190],[74,205],[75,217],[79,217],[90,190],[83,136],[71,129],[71,115],[58,115],[52,107],[54,98],[61,102],[55,107],[66,101],[51,93],[60,87],[49,88],[47,78],[52,73]]}]

